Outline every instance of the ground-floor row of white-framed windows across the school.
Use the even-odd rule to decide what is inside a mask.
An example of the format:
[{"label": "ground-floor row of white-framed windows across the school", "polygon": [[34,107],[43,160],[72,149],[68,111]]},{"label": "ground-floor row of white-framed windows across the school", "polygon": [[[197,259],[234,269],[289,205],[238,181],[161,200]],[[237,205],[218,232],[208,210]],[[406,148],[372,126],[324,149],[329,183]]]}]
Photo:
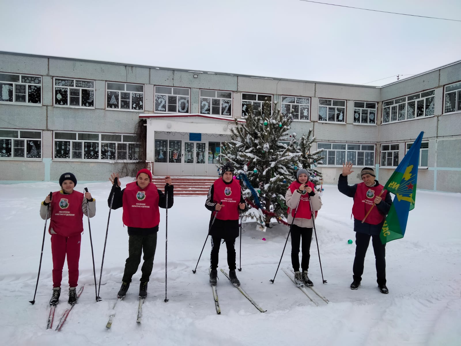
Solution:
[{"label": "ground-floor row of white-framed windows across the school", "polygon": [[[128,134],[94,132],[54,132],[53,158],[71,160],[138,161],[140,144]],[[412,143],[406,144],[406,151]],[[221,142],[184,142],[173,139],[155,140],[155,162],[218,163]],[[355,166],[374,166],[374,144],[317,143],[324,149],[320,165],[340,166],[350,161]],[[420,167],[428,167],[429,143],[421,143]],[[1,130],[0,158],[41,158],[41,131]],[[399,164],[399,144],[382,144],[382,167]]]}]

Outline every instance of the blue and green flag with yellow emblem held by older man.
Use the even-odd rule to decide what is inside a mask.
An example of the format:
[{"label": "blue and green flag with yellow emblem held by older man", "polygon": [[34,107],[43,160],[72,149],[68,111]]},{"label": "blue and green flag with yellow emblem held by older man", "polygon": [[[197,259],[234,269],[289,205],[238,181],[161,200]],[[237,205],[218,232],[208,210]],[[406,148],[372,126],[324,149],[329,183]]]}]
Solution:
[{"label": "blue and green flag with yellow emblem held by older man", "polygon": [[403,238],[407,227],[408,212],[414,209],[416,198],[416,179],[418,178],[418,164],[420,162],[420,147],[424,132],[414,141],[407,155],[405,155],[390,176],[384,189],[396,195],[389,214],[384,221],[379,234],[382,244],[391,240]]}]

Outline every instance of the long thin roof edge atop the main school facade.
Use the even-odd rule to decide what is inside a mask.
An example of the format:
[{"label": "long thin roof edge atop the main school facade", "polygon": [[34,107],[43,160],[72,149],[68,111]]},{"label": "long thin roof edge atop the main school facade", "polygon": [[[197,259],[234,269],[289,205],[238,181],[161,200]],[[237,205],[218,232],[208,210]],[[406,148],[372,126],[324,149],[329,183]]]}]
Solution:
[{"label": "long thin roof edge atop the main school facade", "polygon": [[5,52],[5,51],[0,51],[0,54],[22,55],[22,56],[29,56],[29,57],[34,57],[34,58],[47,58],[47,59],[51,58],[51,59],[62,59],[62,60],[77,60],[77,61],[84,61],[84,62],[90,62],[90,63],[96,63],[96,64],[105,63],[105,64],[121,65],[121,66],[135,66],[135,67],[143,67],[143,68],[154,68],[154,69],[157,69],[157,70],[182,71],[182,72],[204,73],[204,74],[218,74],[218,75],[225,75],[225,76],[247,77],[247,78],[258,78],[258,79],[273,79],[273,80],[283,80],[283,81],[287,81],[287,82],[301,82],[301,83],[327,84],[327,85],[343,85],[343,86],[353,86],[353,87],[370,88],[370,89],[381,88],[379,86],[373,86],[373,85],[345,84],[345,83],[310,81],[310,80],[302,80],[302,79],[253,76],[253,75],[246,75],[246,74],[240,74],[240,73],[213,72],[213,71],[201,71],[201,70],[182,69],[182,68],[173,68],[173,67],[127,64],[127,63],[122,63],[122,62],[113,62],[113,61],[104,61],[104,60],[89,60],[89,59],[80,59],[80,58],[66,58],[66,57],[53,56],[53,55],[27,54],[27,53]]}]

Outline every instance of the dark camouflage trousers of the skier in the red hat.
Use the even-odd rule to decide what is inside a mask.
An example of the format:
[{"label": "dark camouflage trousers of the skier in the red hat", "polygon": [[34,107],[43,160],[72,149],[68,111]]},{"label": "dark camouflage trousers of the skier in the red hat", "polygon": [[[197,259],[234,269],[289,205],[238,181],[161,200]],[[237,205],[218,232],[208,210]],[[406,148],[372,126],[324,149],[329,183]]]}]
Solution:
[{"label": "dark camouflage trousers of the skier in the red hat", "polygon": [[155,248],[157,247],[157,232],[149,235],[130,235],[128,240],[128,254],[129,257],[125,262],[125,270],[123,273],[124,282],[131,282],[131,277],[136,274],[139,263],[141,262],[141,254],[144,263],[141,267],[141,280],[149,281],[152,267],[154,266]]}]

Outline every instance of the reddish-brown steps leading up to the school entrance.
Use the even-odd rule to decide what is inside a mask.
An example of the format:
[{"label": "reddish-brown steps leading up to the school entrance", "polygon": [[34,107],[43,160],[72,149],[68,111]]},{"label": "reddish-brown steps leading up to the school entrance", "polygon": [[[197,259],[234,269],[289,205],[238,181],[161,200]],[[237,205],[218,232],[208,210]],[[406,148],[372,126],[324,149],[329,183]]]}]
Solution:
[{"label": "reddish-brown steps leading up to the school entrance", "polygon": [[[208,190],[218,177],[182,177],[173,176],[171,181],[174,185],[175,196],[207,196]],[[163,191],[165,177],[154,176],[152,182]]]}]

